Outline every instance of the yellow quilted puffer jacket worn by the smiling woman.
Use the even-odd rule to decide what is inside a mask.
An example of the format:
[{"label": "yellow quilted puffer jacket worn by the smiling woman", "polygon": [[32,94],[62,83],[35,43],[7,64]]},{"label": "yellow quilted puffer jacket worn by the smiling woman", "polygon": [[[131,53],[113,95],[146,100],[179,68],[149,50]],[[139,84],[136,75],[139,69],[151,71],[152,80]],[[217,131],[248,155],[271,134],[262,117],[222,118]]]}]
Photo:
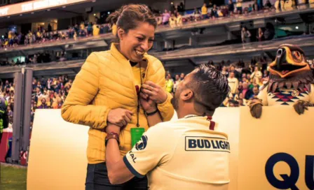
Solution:
[{"label": "yellow quilted puffer jacket worn by the smiling woman", "polygon": [[[148,54],[141,64],[146,64],[144,81],[152,81],[165,89],[165,69],[161,61]],[[158,104],[163,121],[172,118],[174,110],[172,96]],[[121,156],[130,151],[130,129],[137,124],[137,92],[130,62],[111,44],[105,52],[93,52],[76,75],[67,99],[62,106],[62,118],[74,124],[90,126],[88,131],[88,163],[105,161],[103,132],[107,126],[107,115],[111,109],[124,108],[133,112],[131,122],[121,131]],[[149,128],[144,110],[139,111],[139,126]]]}]

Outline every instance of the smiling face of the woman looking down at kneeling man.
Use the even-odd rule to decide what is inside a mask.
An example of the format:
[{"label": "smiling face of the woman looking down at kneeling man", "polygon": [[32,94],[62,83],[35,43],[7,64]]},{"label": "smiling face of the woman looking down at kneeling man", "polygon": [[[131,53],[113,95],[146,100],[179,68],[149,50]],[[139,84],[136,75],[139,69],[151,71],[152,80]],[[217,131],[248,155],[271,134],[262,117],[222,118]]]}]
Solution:
[{"label": "smiling face of the woman looking down at kneeling man", "polygon": [[155,28],[147,22],[139,22],[138,27],[130,29],[128,34],[118,29],[120,52],[133,62],[142,61],[144,53],[153,46]]}]

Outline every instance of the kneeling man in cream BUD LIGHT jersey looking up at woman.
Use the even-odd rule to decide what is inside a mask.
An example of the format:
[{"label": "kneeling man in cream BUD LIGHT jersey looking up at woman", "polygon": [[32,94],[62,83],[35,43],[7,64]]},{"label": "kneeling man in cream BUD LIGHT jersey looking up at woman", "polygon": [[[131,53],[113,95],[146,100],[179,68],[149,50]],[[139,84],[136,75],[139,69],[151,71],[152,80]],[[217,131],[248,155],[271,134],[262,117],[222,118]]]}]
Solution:
[{"label": "kneeling man in cream BUD LIGHT jersey looking up at woman", "polygon": [[[180,82],[172,98],[179,119],[161,122],[160,115],[149,117],[149,123],[157,124],[123,158],[118,138],[123,130],[107,126],[107,133],[114,134],[105,141],[111,184],[147,174],[151,190],[227,190],[231,148],[212,115],[229,91],[226,76],[215,68],[205,64],[196,68]],[[156,108],[144,98],[140,101],[144,107]]]}]

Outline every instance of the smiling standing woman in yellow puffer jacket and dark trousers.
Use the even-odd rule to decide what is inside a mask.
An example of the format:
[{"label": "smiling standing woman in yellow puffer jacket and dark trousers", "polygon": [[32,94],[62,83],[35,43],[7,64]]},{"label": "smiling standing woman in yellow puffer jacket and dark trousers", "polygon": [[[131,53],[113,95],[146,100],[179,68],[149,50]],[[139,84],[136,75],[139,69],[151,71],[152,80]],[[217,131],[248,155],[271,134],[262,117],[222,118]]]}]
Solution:
[{"label": "smiling standing woman in yellow puffer jacket and dark trousers", "polygon": [[[146,52],[153,45],[156,20],[144,5],[123,6],[109,15],[116,24],[118,43],[104,52],[93,52],[76,75],[62,106],[67,122],[90,126],[88,131],[88,173],[86,189],[147,189],[146,177],[112,185],[105,164],[104,128],[108,123],[123,127],[120,133],[121,156],[130,151],[132,128],[149,129],[146,115],[160,114],[163,121],[172,118],[171,94],[165,91],[165,69],[161,61]],[[139,105],[138,92],[156,103],[158,112]],[[143,91],[142,91],[143,92]]]}]

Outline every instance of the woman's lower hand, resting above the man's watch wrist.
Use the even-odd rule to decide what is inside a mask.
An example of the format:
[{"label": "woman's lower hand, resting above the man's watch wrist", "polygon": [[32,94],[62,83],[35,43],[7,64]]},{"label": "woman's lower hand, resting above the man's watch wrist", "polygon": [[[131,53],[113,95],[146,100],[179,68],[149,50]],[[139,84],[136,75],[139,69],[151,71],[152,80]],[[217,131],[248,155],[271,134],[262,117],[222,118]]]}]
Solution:
[{"label": "woman's lower hand, resting above the man's watch wrist", "polygon": [[110,110],[107,121],[111,124],[117,126],[126,126],[132,119],[133,113],[130,110],[125,110],[123,108],[117,108]]}]

